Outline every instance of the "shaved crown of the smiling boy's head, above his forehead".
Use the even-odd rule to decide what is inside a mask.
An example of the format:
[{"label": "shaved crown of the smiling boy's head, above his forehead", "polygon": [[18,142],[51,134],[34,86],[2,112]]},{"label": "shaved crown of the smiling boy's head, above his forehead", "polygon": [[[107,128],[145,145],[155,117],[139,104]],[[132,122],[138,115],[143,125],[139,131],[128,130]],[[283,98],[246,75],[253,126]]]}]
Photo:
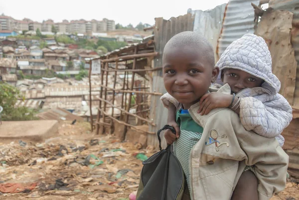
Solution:
[{"label": "shaved crown of the smiling boy's head, above his forehead", "polygon": [[[173,48],[192,48],[201,54],[212,67],[215,66],[213,47],[201,34],[193,31],[180,32],[174,35],[165,45],[163,55]],[[163,56],[164,57],[164,56]]]}]

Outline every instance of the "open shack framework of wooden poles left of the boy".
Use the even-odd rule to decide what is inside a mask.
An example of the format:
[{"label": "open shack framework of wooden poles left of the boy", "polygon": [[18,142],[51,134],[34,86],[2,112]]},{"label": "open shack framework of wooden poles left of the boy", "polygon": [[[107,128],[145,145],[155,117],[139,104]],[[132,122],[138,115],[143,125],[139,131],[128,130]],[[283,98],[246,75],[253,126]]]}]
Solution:
[{"label": "open shack framework of wooden poles left of the boy", "polygon": [[[158,54],[157,52],[154,52],[154,42],[152,39],[152,37],[149,37],[143,40],[143,42],[129,44],[126,47],[114,50],[96,58],[92,58],[91,61],[89,61],[91,62],[91,66],[94,65],[94,67],[100,67],[101,70],[101,84],[99,85],[101,86],[101,90],[99,91],[100,95],[98,97],[99,111],[95,124],[97,133],[104,133],[105,130],[113,132],[114,126],[117,123],[124,125],[124,132],[119,135],[122,140],[126,138],[127,127],[151,134],[151,132],[139,128],[139,125],[143,125],[143,123],[149,123],[152,126],[155,126],[155,124],[152,123],[152,121],[148,118],[149,108],[147,107],[146,102],[149,95],[161,95],[161,93],[147,91],[150,89],[147,87],[147,85],[151,84],[150,80],[145,78],[139,78],[139,80],[136,79],[138,73],[143,74],[148,73],[149,71],[161,69],[161,67],[153,69],[151,66],[151,61]],[[143,59],[147,59],[148,61],[141,61]],[[98,63],[99,60],[100,65]],[[131,65],[130,63],[132,62],[133,64]],[[148,63],[150,63],[149,68],[147,68]],[[124,66],[124,68],[121,68],[121,64]],[[96,68],[90,68],[89,70],[90,74],[96,73],[96,71],[98,71]],[[122,89],[117,89],[117,77],[120,74],[124,74],[124,72],[124,80],[121,82]],[[109,76],[109,74],[111,76]],[[132,76],[130,83],[128,78],[129,75]],[[109,77],[111,77],[110,81]],[[141,80],[144,82],[143,84],[141,84]],[[92,85],[91,79],[90,85]],[[90,91],[94,90],[90,88]],[[112,99],[108,98],[108,92],[112,93]],[[133,95],[134,93],[136,95]],[[122,102],[120,105],[115,104],[116,94],[121,94],[122,96]],[[127,98],[129,100],[128,105],[126,103]],[[89,99],[92,99],[91,92]],[[132,99],[135,100],[134,105],[131,105]],[[90,113],[92,113],[91,104],[92,103],[90,103]],[[132,108],[135,107],[135,105],[136,108]],[[112,107],[111,113],[108,113],[109,107]],[[119,115],[116,115],[118,112],[116,110],[120,111]],[[91,126],[93,127],[92,115],[90,115],[90,118]],[[133,118],[133,120],[130,118]],[[138,119],[137,122],[136,119]]]}]

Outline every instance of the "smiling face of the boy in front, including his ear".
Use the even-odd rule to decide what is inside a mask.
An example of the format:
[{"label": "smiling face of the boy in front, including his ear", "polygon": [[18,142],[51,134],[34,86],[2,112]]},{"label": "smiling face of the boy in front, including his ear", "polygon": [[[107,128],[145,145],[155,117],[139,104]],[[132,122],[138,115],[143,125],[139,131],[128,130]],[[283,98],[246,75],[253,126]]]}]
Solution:
[{"label": "smiling face of the boy in front, including his ear", "polygon": [[214,68],[197,49],[172,48],[163,54],[164,86],[184,109],[189,109],[208,91],[218,73],[219,68]]}]

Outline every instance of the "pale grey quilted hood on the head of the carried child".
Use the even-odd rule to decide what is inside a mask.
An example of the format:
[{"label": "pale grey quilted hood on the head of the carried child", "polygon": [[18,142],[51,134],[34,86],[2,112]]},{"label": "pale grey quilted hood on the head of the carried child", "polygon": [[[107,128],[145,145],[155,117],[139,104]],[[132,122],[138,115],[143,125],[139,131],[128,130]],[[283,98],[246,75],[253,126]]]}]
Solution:
[{"label": "pale grey quilted hood on the head of the carried child", "polygon": [[[263,79],[264,92],[275,95],[281,83],[272,73],[272,58],[266,41],[257,35],[246,34],[232,42],[216,63],[220,71],[226,68],[239,69]],[[217,79],[221,83],[221,77]],[[223,84],[223,83],[222,83]]]}]

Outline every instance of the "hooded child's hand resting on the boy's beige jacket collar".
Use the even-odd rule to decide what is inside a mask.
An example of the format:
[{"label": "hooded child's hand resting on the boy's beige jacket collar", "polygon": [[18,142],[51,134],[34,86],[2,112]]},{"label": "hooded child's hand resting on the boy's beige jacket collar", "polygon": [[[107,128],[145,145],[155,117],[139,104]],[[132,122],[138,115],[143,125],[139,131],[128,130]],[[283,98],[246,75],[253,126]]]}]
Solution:
[{"label": "hooded child's hand resting on the boy's beige jacket collar", "polygon": [[200,107],[197,113],[207,115],[214,108],[227,108],[233,100],[233,95],[223,94],[219,92],[211,92],[200,98]]}]

